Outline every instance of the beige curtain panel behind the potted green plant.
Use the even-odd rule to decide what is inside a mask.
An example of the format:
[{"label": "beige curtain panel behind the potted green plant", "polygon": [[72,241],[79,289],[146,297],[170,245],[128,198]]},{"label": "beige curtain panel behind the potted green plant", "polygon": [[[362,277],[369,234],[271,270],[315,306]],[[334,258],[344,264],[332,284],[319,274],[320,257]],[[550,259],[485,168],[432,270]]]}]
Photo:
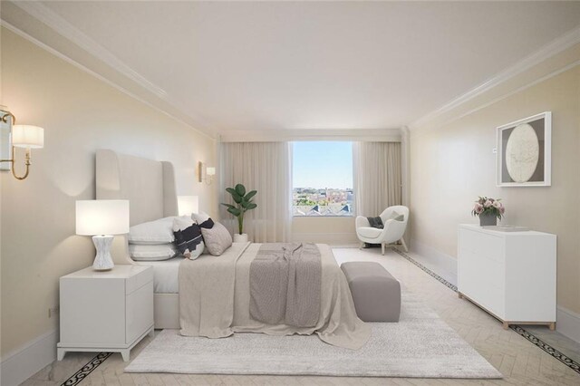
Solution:
[{"label": "beige curtain panel behind the potted green plant", "polygon": [[[244,233],[255,243],[289,242],[292,232],[292,144],[226,142],[220,145],[220,203],[233,204],[226,188],[257,190],[256,209],[246,212]],[[237,233],[237,219],[219,206],[222,223]]]}]

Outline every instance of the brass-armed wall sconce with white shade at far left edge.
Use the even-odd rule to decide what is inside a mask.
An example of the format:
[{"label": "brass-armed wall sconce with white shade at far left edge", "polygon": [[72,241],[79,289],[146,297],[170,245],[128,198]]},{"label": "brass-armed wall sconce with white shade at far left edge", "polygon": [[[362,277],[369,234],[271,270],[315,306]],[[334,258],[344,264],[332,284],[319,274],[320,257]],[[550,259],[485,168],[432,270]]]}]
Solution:
[{"label": "brass-armed wall sconce with white shade at far left edge", "polygon": [[[32,125],[16,125],[16,118],[12,112],[6,112],[0,118],[0,121],[8,123],[8,119],[12,122],[12,158],[11,159],[0,159],[0,162],[10,162],[12,165],[12,175],[15,179],[25,179],[28,177],[30,171],[31,159],[31,149],[42,149],[44,147],[44,129],[38,126]],[[14,170],[14,159],[16,158],[16,148],[24,148],[26,150],[26,155],[24,159],[24,165],[26,169],[24,171],[24,176],[17,176]]]}]

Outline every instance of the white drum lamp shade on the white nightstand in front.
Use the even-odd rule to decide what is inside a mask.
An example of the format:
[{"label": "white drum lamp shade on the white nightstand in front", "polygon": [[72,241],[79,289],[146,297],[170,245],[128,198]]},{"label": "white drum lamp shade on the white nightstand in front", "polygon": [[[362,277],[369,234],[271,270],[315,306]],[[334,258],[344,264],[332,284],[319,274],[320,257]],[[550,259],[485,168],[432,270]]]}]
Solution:
[{"label": "white drum lamp shade on the white nightstand in front", "polygon": [[90,199],[76,202],[77,235],[129,233],[129,200]]}]

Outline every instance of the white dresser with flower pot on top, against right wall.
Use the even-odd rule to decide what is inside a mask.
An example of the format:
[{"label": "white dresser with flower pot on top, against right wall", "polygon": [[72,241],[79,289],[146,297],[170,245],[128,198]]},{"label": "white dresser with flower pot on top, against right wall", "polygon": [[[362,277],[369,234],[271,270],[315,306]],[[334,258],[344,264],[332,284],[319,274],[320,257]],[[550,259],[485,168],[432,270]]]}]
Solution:
[{"label": "white dresser with flower pot on top, against right wall", "polygon": [[509,324],[556,328],[556,235],[459,225],[459,297]]}]

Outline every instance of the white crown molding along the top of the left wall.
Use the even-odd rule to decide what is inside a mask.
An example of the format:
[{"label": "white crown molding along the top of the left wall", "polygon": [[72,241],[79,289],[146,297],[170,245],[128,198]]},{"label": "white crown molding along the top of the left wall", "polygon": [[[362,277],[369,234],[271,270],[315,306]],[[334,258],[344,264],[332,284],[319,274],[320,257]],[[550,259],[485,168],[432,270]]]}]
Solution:
[{"label": "white crown molding along the top of the left wall", "polygon": [[[55,33],[62,36],[64,39],[69,41],[69,43],[73,43],[77,47],[79,47],[85,53],[90,54],[92,57],[98,59],[100,62],[104,63],[107,67],[112,69],[114,72],[118,72],[121,74],[122,77],[127,78],[131,83],[134,83],[140,88],[140,91],[134,90],[131,92],[127,89],[127,87],[123,87],[120,83],[113,81],[106,75],[102,75],[97,70],[92,70],[88,67],[89,64],[87,63],[80,63],[77,60],[73,59],[72,57],[68,56],[65,53],[62,53],[47,43],[43,43],[40,40],[36,39],[34,36],[27,34],[23,30],[21,30],[18,26],[14,24],[10,24],[5,20],[1,20],[0,24],[4,25],[15,34],[19,34],[20,36],[24,37],[26,40],[38,45],[39,47],[43,48],[44,50],[57,55],[59,58],[65,60],[68,63],[72,63],[76,67],[82,69],[85,72],[91,73],[93,76],[97,77],[103,82],[108,83],[109,85],[113,86],[115,89],[131,96],[131,98],[136,99],[137,101],[143,102],[154,109],[163,112],[164,114],[168,115],[169,117],[179,121],[181,123],[186,124],[191,129],[196,130],[198,133],[207,136],[208,138],[215,139],[216,133],[212,130],[209,130],[207,122],[204,122],[198,117],[191,116],[191,114],[182,111],[175,101],[172,101],[169,97],[168,93],[165,92],[160,86],[156,85],[153,82],[150,82],[144,76],[142,76],[139,72],[133,70],[129,65],[122,62],[117,56],[111,53],[106,48],[102,47],[101,44],[92,40],[86,34],[83,34],[78,28],[73,26],[67,22],[62,16],[53,12],[52,9],[48,8],[46,5],[43,5],[39,2],[18,2],[18,1],[10,1],[11,5],[16,6],[25,14],[28,14],[36,21],[44,24],[49,29],[53,30]],[[143,96],[139,96],[138,94],[143,94]],[[146,97],[145,95],[149,95],[150,97]],[[150,98],[157,99],[158,101],[162,101],[161,104],[165,103],[168,110],[164,109],[162,106],[156,105],[150,100]],[[180,116],[182,116],[180,118]],[[201,126],[201,127],[198,127]]]}]

